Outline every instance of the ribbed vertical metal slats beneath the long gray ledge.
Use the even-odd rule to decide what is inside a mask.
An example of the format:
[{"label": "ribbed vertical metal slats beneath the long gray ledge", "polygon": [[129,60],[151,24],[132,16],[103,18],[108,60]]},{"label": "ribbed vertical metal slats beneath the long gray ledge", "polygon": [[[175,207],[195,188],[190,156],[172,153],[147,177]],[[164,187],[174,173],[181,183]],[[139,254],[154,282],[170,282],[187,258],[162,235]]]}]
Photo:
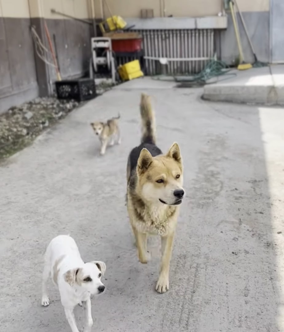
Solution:
[{"label": "ribbed vertical metal slats beneath the long gray ledge", "polygon": [[[138,30],[143,36],[145,56],[167,58],[212,58],[214,55],[214,30]],[[129,59],[130,60],[130,59]],[[170,61],[166,73],[193,74],[201,71],[208,60]],[[147,75],[162,73],[157,60],[145,60]]]}]

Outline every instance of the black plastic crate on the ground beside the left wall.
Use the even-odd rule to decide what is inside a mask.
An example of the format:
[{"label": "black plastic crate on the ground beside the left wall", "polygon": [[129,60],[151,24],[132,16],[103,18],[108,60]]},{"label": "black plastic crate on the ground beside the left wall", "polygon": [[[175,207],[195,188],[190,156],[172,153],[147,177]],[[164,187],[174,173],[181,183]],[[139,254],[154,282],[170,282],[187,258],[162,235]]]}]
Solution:
[{"label": "black plastic crate on the ground beside the left wall", "polygon": [[91,78],[56,81],[55,86],[58,99],[75,99],[81,102],[96,97],[95,81]]}]

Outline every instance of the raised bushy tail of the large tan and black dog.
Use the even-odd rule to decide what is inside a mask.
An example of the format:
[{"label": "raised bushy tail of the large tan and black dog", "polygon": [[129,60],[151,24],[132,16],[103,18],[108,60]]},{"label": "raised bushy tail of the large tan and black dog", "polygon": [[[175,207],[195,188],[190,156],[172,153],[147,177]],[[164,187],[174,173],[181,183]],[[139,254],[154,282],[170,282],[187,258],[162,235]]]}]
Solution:
[{"label": "raised bushy tail of the large tan and black dog", "polygon": [[150,96],[144,93],[141,94],[140,114],[142,119],[141,143],[156,144],[155,113],[152,109]]}]

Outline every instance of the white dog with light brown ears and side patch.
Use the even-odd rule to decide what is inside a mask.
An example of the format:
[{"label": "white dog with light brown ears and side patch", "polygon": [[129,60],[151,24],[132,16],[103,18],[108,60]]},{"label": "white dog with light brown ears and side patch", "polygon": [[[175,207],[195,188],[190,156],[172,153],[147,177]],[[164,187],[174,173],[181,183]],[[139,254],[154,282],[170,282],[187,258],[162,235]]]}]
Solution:
[{"label": "white dog with light brown ears and side patch", "polygon": [[101,294],[105,290],[105,286],[101,282],[102,274],[105,271],[104,262],[83,262],[76,242],[71,236],[55,237],[45,252],[41,305],[49,304],[46,283],[51,275],[53,283],[58,286],[61,303],[72,332],[79,332],[73,309],[81,303],[87,318],[84,331],[90,331],[93,325],[90,296]]}]

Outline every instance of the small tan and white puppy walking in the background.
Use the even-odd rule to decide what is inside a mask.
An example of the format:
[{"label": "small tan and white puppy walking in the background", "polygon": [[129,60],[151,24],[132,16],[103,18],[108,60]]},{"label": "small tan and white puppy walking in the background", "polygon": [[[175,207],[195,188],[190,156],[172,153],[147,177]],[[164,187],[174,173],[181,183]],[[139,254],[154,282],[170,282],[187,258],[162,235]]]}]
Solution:
[{"label": "small tan and white puppy walking in the background", "polygon": [[91,126],[95,131],[95,134],[99,136],[101,141],[101,155],[104,155],[106,152],[107,144],[112,146],[115,142],[117,144],[121,143],[120,131],[118,126],[118,119],[120,119],[120,115],[118,117],[113,117],[110,120],[104,122],[92,122]]}]

